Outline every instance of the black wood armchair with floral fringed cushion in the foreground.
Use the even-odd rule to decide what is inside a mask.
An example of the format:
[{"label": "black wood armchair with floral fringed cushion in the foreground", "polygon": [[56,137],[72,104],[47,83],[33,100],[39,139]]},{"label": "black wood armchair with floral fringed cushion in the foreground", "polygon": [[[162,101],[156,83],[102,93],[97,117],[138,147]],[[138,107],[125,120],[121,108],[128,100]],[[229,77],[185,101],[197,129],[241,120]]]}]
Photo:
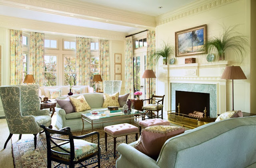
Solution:
[{"label": "black wood armchair with floral fringed cushion in the foreground", "polygon": [[[58,162],[59,164],[54,166],[57,167],[60,164],[69,165],[70,168],[74,168],[75,164],[81,164],[84,167],[95,164],[93,168],[100,168],[100,134],[98,132],[88,133],[86,135],[74,136],[70,132],[69,127],[62,128],[60,130],[53,130],[40,125],[46,133],[46,144],[47,144],[47,168],[51,168],[52,161]],[[68,139],[53,137],[52,134],[67,135]],[[98,144],[89,143],[82,139],[90,137],[92,135],[98,136]],[[62,141],[61,143],[56,143],[56,141]],[[51,144],[53,144],[51,146]],[[82,152],[81,152],[82,151]],[[82,164],[82,162],[98,156],[98,161],[90,162],[88,164]]]}]

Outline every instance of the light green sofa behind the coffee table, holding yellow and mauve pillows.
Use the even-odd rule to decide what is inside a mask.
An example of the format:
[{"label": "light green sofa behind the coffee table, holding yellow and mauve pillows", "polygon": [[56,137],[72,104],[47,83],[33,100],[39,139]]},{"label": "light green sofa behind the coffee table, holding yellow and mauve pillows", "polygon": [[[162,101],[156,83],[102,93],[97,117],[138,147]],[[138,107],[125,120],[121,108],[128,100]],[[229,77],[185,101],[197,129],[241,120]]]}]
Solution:
[{"label": "light green sofa behind the coffee table, holding yellow and mauve pillows", "polygon": [[[56,119],[56,127],[59,129],[62,129],[64,127],[70,127],[71,131],[80,131],[82,130],[83,124],[82,124],[82,119],[81,119],[81,114],[82,113],[90,113],[91,111],[102,111],[106,110],[107,107],[102,107],[104,103],[104,98],[102,93],[85,93],[85,94],[80,94],[83,95],[86,102],[90,105],[92,109],[90,110],[85,110],[81,112],[74,112],[74,113],[69,113],[66,114],[64,109],[61,109],[60,106],[57,104],[55,107],[55,111],[57,113],[57,119]],[[72,95],[71,97],[78,97],[80,95]],[[67,96],[63,97],[58,97],[56,99],[66,99]],[[119,107],[119,109],[122,109]],[[123,116],[123,117],[129,117],[129,116]],[[108,121],[109,119],[104,119],[104,121]],[[98,121],[103,121],[102,119]],[[98,122],[97,121],[97,122]],[[106,125],[114,125],[118,123],[127,123],[130,122],[130,119],[124,119],[121,121],[115,121],[115,122],[107,122],[107,123],[101,123],[101,124],[94,124],[94,128],[99,128],[99,127],[105,127]],[[134,121],[132,121],[134,122]],[[84,129],[91,129],[92,126],[90,123],[84,121]]]}]

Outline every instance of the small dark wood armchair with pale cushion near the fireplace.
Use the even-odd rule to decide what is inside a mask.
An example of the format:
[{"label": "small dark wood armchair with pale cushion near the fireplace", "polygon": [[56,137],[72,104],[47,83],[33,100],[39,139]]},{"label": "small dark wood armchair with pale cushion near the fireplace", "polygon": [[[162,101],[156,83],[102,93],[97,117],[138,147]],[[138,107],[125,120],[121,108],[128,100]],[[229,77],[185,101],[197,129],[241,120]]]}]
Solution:
[{"label": "small dark wood armchair with pale cushion near the fireplace", "polygon": [[[164,95],[165,96],[165,95]],[[145,99],[144,101],[150,101],[150,104],[144,105],[142,109],[146,110],[146,115],[149,118],[161,118],[163,119],[163,107],[164,107],[164,96],[155,96],[154,94],[150,99]],[[157,112],[157,115],[153,111]],[[159,115],[159,111],[162,113]]]}]

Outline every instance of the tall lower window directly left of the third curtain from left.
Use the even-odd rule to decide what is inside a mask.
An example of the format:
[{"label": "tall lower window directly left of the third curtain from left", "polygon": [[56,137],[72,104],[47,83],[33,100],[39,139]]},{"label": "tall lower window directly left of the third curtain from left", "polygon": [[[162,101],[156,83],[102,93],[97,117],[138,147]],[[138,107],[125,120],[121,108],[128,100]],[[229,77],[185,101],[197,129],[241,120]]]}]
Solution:
[{"label": "tall lower window directly left of the third curtain from left", "polygon": [[64,56],[64,85],[76,85],[76,57]]}]

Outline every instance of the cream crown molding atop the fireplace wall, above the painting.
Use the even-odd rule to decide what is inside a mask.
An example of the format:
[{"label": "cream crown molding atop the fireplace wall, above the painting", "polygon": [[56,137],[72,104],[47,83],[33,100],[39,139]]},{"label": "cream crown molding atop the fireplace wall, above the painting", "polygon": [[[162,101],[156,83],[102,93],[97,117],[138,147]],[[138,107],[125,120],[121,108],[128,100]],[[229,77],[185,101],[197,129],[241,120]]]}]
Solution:
[{"label": "cream crown molding atop the fireplace wall, above the painting", "polygon": [[236,1],[238,0],[199,0],[178,10],[157,16],[156,26],[200,14]]}]

